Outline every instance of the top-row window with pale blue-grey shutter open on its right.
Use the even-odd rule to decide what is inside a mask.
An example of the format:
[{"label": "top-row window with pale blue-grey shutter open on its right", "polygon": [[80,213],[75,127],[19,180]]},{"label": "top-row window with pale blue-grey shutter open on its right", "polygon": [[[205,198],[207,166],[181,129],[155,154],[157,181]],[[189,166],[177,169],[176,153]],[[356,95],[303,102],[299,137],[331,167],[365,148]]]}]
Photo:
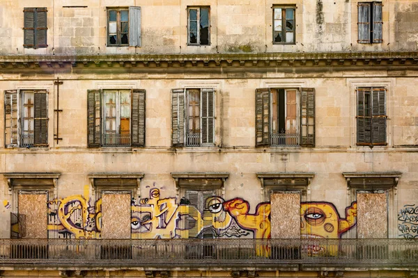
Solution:
[{"label": "top-row window with pale blue-grey shutter open on its right", "polygon": [[141,46],[141,8],[107,9],[107,46]]}]

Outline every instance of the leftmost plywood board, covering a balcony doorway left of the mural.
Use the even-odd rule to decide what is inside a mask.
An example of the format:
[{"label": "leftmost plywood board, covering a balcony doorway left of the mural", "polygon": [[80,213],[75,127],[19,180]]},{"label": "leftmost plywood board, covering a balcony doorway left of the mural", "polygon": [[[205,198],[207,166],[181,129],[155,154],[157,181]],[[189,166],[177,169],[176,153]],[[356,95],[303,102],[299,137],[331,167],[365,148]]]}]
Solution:
[{"label": "leftmost plywood board, covering a balcony doorway left of the mural", "polygon": [[23,238],[47,238],[47,194],[20,194],[18,206],[26,215]]}]

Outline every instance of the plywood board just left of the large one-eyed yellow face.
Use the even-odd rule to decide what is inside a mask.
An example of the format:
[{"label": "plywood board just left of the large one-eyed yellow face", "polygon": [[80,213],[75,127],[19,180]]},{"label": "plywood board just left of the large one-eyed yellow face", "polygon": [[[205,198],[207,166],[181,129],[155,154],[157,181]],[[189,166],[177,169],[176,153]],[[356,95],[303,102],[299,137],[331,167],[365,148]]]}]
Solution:
[{"label": "plywood board just left of the large one-eyed yellow face", "polygon": [[272,193],[272,238],[300,238],[300,194]]}]

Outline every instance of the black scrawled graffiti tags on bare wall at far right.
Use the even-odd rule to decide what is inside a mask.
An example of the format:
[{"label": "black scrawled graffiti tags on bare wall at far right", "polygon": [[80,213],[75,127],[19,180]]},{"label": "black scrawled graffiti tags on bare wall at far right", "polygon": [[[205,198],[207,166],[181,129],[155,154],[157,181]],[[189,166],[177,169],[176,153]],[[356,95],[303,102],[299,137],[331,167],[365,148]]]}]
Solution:
[{"label": "black scrawled graffiti tags on bare wall at far right", "polygon": [[401,238],[418,238],[418,206],[405,204],[398,213],[398,230]]}]

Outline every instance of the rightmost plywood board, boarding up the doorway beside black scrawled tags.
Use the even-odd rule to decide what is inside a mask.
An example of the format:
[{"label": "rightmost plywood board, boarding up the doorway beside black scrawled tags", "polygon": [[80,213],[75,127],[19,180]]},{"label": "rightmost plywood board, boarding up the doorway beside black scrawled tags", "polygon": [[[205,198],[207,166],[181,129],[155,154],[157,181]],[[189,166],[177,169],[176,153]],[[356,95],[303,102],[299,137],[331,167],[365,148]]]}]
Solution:
[{"label": "rightmost plywood board, boarding up the doorway beside black scrawled tags", "polygon": [[357,238],[387,238],[386,193],[357,193]]}]

